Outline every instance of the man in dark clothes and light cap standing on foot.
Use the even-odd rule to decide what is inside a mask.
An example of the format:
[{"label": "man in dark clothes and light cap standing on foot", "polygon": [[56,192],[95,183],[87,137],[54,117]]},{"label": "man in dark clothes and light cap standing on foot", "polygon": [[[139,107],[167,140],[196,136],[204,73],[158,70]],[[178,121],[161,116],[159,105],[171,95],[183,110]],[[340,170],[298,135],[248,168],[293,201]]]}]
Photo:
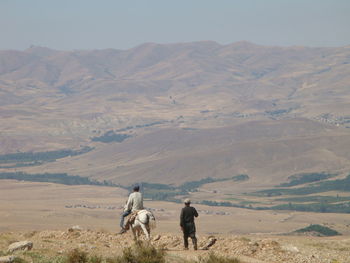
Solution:
[{"label": "man in dark clothes and light cap standing on foot", "polygon": [[188,249],[188,238],[192,239],[193,249],[197,250],[197,238],[196,238],[196,225],[194,223],[194,218],[198,217],[196,208],[190,206],[191,200],[185,199],[185,207],[181,210],[180,215],[180,226],[184,234],[184,246]]}]

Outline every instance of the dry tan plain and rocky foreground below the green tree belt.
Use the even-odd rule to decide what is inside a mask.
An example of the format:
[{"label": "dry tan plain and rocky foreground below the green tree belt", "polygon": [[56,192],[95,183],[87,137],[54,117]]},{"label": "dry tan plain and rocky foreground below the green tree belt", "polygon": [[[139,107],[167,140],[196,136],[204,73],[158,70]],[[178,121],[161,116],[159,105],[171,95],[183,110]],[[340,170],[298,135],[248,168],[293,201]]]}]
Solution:
[{"label": "dry tan plain and rocky foreground below the green tree belt", "polygon": [[[0,251],[15,241],[30,240],[30,253],[62,255],[74,248],[104,257],[133,244],[131,235],[116,235],[127,191],[115,187],[64,186],[2,180],[0,185]],[[145,200],[157,220],[152,241],[167,251],[169,262],[196,259],[210,251],[245,263],[349,263],[350,215],[293,211],[256,211],[195,205],[199,212],[199,247],[210,236],[209,251],[184,251],[179,227],[182,204]],[[284,235],[310,224],[337,230],[337,237]],[[82,230],[68,231],[79,225]],[[22,252],[20,252],[22,253]],[[0,253],[1,255],[1,253]],[[30,261],[29,261],[30,262]]]}]

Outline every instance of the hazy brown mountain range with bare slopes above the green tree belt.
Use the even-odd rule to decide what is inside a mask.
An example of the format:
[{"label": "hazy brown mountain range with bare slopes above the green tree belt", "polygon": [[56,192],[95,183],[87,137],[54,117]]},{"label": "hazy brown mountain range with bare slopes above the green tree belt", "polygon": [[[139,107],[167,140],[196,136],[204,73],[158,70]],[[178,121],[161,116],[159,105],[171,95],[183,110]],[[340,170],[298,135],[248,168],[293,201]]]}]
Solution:
[{"label": "hazy brown mountain range with bare slopes above the green tree belt", "polygon": [[25,172],[125,184],[243,173],[252,187],[347,173],[350,46],[0,51],[0,127],[1,154],[94,147]]}]

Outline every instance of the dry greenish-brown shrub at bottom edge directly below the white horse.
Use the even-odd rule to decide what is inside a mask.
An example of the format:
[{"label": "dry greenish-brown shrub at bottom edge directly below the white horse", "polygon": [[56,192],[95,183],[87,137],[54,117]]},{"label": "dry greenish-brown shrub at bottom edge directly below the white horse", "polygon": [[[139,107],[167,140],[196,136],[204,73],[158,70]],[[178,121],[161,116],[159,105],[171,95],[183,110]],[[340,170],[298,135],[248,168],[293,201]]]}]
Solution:
[{"label": "dry greenish-brown shrub at bottom edge directly below the white horse", "polygon": [[139,241],[124,249],[122,256],[107,259],[107,263],[165,263],[165,252]]}]

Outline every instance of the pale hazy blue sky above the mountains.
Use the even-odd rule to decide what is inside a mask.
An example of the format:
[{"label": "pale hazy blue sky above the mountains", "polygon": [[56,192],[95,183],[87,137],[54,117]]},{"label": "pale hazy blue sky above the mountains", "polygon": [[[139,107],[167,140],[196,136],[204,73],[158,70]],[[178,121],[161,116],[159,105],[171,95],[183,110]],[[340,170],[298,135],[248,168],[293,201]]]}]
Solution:
[{"label": "pale hazy blue sky above the mountains", "polygon": [[0,0],[0,49],[350,44],[350,0]]}]

